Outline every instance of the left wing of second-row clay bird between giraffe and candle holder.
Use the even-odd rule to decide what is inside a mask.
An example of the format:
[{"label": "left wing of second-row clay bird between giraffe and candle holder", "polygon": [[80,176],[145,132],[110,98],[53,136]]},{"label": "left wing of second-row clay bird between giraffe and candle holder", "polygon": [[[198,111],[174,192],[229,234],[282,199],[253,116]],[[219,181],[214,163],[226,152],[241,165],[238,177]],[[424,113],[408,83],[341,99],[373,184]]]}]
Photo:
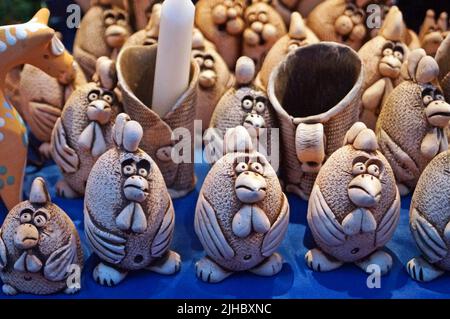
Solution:
[{"label": "left wing of second-row clay bird between giraffe and candle holder", "polygon": [[52,132],[52,156],[64,173],[75,173],[80,164],[75,150],[67,144],[66,132],[59,118]]}]

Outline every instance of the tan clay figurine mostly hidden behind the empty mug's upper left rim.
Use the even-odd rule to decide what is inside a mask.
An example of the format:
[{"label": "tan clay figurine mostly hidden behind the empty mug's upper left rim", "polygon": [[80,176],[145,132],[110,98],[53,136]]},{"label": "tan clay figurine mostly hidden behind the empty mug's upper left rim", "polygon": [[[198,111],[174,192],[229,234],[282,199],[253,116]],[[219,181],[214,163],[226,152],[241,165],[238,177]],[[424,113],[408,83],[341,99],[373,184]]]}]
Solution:
[{"label": "tan clay figurine mostly hidden behind the empty mug's upper left rim", "polygon": [[292,13],[289,32],[281,37],[267,53],[256,82],[259,86],[267,89],[269,76],[276,65],[292,50],[298,47],[318,43],[319,39],[305,25],[302,16],[298,12]]}]

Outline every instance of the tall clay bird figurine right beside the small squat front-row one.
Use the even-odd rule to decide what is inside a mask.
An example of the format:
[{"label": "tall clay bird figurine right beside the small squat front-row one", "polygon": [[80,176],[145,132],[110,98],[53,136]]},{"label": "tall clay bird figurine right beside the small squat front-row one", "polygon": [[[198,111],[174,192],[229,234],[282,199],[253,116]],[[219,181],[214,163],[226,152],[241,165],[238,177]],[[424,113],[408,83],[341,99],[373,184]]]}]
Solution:
[{"label": "tall clay bird figurine right beside the small squat front-row one", "polygon": [[84,223],[88,243],[102,260],[94,279],[113,286],[130,270],[173,274],[180,256],[169,250],[175,215],[164,178],[139,148],[141,125],[121,113],[116,146],[95,163],[86,185]]}]

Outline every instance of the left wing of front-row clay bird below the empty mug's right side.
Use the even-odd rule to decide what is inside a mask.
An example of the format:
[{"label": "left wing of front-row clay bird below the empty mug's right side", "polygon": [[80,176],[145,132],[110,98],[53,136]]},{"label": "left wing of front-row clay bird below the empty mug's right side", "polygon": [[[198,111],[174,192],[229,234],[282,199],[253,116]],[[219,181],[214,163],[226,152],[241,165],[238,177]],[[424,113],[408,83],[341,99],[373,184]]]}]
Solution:
[{"label": "left wing of front-row clay bird below the empty mug's right side", "polygon": [[318,185],[315,185],[311,192],[307,217],[309,226],[324,243],[339,246],[344,242],[344,230],[334,217]]}]

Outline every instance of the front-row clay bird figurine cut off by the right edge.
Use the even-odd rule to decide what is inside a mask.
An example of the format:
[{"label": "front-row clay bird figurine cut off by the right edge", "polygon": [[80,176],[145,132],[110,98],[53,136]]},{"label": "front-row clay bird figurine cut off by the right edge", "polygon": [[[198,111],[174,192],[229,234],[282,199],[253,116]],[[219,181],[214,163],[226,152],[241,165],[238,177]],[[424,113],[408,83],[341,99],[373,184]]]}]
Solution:
[{"label": "front-row clay bird figurine cut off by the right edge", "polygon": [[417,281],[431,281],[450,270],[450,151],[428,164],[411,201],[409,226],[421,256],[406,265]]}]

